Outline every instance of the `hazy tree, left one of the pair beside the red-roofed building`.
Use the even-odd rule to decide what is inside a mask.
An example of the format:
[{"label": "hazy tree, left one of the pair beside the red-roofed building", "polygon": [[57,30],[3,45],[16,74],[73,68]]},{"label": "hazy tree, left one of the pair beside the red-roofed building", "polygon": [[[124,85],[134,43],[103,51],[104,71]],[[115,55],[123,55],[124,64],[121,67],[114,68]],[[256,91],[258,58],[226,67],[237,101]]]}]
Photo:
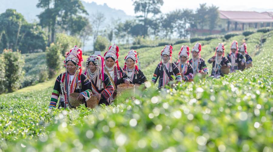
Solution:
[{"label": "hazy tree, left one of the pair beside the red-roofed building", "polygon": [[204,29],[204,25],[207,23],[207,6],[206,3],[199,4],[200,8],[196,11],[196,20],[201,29]]}]

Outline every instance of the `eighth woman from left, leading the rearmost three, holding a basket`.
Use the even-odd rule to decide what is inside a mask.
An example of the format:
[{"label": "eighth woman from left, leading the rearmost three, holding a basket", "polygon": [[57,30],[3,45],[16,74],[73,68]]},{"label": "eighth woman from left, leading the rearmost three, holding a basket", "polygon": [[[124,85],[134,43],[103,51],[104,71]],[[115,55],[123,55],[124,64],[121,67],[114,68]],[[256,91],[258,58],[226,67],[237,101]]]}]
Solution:
[{"label": "eighth woman from left, leading the rearmost three, holding a basket", "polygon": [[222,66],[227,65],[228,68],[231,67],[227,58],[224,57],[224,50],[224,45],[219,43],[218,47],[216,47],[214,56],[208,60],[208,63],[212,63],[211,77],[219,78],[220,76],[223,76],[220,71]]}]

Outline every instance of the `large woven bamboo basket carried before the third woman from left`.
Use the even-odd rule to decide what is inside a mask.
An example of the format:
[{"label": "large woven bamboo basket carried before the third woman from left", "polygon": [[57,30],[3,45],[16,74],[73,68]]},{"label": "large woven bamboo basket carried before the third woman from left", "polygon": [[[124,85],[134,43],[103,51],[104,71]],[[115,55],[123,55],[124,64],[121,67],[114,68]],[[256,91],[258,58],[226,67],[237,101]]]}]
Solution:
[{"label": "large woven bamboo basket carried before the third woman from left", "polygon": [[125,83],[120,84],[117,86],[117,95],[126,95],[128,98],[134,98],[135,97],[135,85],[129,84],[127,86]]}]

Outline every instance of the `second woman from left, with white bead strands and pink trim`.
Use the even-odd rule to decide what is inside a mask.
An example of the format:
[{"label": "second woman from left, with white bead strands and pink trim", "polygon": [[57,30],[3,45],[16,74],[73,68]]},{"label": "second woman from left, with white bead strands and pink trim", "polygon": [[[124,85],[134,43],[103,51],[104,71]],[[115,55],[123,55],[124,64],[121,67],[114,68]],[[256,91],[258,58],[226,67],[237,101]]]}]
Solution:
[{"label": "second woman from left, with white bead strands and pink trim", "polygon": [[99,104],[110,105],[110,96],[114,87],[109,76],[104,72],[104,60],[102,56],[89,55],[86,60],[87,78],[91,81],[93,95],[98,96]]}]

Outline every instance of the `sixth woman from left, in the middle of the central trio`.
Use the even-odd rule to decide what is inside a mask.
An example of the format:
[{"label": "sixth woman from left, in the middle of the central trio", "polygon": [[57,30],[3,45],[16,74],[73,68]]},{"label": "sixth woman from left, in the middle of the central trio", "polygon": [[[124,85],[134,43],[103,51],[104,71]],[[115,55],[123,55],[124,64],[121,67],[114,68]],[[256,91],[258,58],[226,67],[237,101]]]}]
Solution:
[{"label": "sixth woman from left, in the middle of the central trio", "polygon": [[189,50],[188,46],[183,45],[178,54],[178,62],[176,63],[184,81],[190,81],[193,78],[194,72],[192,66],[189,64]]}]

